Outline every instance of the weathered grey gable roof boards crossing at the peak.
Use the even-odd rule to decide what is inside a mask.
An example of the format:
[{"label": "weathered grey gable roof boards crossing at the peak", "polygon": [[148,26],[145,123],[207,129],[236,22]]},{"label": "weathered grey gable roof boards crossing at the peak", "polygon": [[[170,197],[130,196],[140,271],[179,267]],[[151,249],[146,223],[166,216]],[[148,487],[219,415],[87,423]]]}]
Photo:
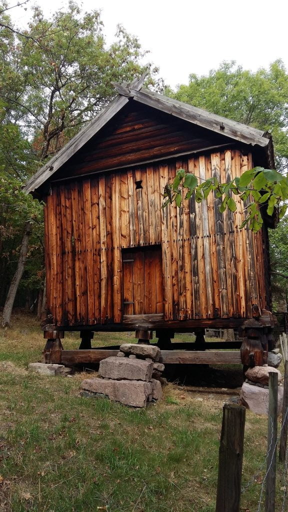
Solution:
[{"label": "weathered grey gable roof boards crossing at the peak", "polygon": [[61,166],[96,135],[131,99],[244,144],[258,145],[266,151],[270,166],[272,168],[275,166],[272,136],[268,132],[262,132],[252,126],[211,114],[203,109],[198,109],[148,89],[142,89],[145,77],[146,73],[139,79],[135,79],[130,85],[112,82],[118,92],[118,96],[29,179],[24,187],[24,191],[27,194],[33,193],[34,190],[49,180]]}]

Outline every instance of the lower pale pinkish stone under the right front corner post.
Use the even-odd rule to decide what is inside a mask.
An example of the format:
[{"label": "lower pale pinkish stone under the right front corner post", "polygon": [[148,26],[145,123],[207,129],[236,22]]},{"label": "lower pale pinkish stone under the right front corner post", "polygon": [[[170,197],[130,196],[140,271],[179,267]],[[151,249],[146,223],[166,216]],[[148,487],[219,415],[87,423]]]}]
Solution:
[{"label": "lower pale pinkish stone under the right front corner post", "polygon": [[[243,405],[256,414],[268,414],[269,389],[251,386],[244,382],[241,388],[240,400]],[[283,388],[278,386],[278,414],[283,407]]]}]

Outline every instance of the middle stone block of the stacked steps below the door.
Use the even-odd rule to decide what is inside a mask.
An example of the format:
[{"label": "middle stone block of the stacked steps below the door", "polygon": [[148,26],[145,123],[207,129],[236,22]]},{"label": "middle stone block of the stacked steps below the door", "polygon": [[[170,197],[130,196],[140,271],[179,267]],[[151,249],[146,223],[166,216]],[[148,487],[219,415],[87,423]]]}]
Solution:
[{"label": "middle stone block of the stacked steps below the door", "polygon": [[129,357],[107,357],[99,365],[99,375],[109,379],[151,380],[153,362]]}]

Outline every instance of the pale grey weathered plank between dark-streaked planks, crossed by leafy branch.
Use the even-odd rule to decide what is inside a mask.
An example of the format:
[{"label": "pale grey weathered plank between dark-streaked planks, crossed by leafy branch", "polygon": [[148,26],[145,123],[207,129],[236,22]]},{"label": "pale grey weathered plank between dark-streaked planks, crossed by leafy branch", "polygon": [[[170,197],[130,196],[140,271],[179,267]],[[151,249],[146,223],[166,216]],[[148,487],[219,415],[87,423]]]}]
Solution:
[{"label": "pale grey weathered plank between dark-streaked planks, crossed by leafy branch", "polygon": [[[207,179],[205,157],[199,157],[199,176],[200,182]],[[210,257],[210,231],[209,231],[209,218],[208,218],[208,204],[207,201],[202,201],[202,232],[203,232],[203,246],[204,246],[204,262],[205,262],[205,282],[207,290],[207,306],[206,316],[212,318],[214,316],[214,303],[213,303],[213,286],[212,286],[212,264]]]}]

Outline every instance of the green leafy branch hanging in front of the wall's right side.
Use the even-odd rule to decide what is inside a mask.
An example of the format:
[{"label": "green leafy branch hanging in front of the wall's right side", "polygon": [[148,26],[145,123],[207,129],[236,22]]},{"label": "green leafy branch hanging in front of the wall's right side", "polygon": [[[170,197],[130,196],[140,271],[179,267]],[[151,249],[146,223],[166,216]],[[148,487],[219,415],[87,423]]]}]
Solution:
[{"label": "green leafy branch hanging in front of the wall's right side", "polygon": [[184,169],[178,169],[173,182],[167,183],[164,188],[163,207],[173,201],[180,207],[183,189],[187,189],[184,199],[190,199],[194,194],[197,203],[207,199],[210,192],[214,191],[215,197],[222,200],[219,205],[221,213],[227,208],[230,211],[236,211],[237,205],[232,193],[239,196],[246,210],[246,217],[239,227],[242,229],[247,224],[249,229],[254,232],[259,231],[262,227],[261,210],[263,207],[266,208],[266,212],[270,216],[275,209],[278,210],[281,219],[288,206],[285,203],[288,199],[287,177],[276,170],[264,169],[264,167],[246,170],[240,177],[234,178],[229,183],[219,183],[216,177],[199,183],[194,174],[187,173]]}]

